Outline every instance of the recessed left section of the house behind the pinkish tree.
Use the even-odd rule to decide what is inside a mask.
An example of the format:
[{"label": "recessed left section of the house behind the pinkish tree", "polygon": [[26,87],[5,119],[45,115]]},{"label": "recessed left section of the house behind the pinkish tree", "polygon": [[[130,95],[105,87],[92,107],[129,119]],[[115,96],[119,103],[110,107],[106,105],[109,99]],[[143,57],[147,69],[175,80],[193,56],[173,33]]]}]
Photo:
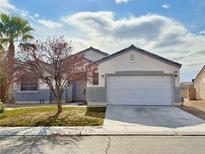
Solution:
[{"label": "recessed left section of the house behind the pinkish tree", "polygon": [[[108,56],[107,53],[90,47],[76,54],[83,55],[90,63]],[[87,80],[74,81],[65,89],[63,102],[86,101]],[[17,103],[52,103],[55,98],[46,84],[37,78],[25,79],[16,86],[14,97]]]}]

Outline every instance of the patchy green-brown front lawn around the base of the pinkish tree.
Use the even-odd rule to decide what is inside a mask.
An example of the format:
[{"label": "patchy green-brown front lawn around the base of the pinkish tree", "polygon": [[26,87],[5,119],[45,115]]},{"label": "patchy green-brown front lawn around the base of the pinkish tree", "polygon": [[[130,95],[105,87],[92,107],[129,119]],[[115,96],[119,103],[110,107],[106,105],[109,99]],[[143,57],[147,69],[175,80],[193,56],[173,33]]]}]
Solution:
[{"label": "patchy green-brown front lawn around the base of the pinkish tree", "polygon": [[6,110],[0,113],[0,126],[100,126],[105,117],[104,107],[63,107],[59,117],[56,106]]}]

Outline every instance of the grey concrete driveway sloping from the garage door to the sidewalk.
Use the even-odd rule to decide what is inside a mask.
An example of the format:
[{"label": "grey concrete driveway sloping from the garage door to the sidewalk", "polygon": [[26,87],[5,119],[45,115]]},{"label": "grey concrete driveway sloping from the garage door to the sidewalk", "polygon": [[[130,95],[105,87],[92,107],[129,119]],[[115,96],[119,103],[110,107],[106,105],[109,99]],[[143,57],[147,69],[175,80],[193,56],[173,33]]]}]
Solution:
[{"label": "grey concrete driveway sloping from the garage door to the sidewalk", "polygon": [[157,126],[179,128],[203,124],[205,121],[177,107],[108,106],[104,126]]}]

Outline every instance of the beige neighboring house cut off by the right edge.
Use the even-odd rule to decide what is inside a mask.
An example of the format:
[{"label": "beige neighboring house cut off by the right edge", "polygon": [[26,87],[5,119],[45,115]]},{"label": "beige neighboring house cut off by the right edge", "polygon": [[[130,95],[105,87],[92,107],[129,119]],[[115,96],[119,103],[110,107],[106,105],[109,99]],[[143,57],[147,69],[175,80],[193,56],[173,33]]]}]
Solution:
[{"label": "beige neighboring house cut off by the right edge", "polygon": [[204,100],[205,99],[205,66],[198,73],[194,79],[194,87],[196,91],[196,99]]}]

